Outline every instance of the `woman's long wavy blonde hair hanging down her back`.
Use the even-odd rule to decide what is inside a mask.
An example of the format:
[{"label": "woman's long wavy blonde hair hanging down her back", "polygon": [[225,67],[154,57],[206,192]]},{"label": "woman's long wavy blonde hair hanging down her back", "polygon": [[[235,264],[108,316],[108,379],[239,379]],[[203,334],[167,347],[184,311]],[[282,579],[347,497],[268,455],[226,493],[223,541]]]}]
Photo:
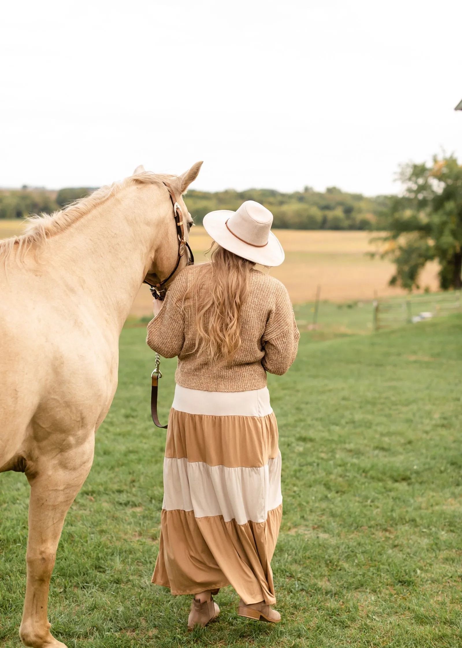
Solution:
[{"label": "woman's long wavy blonde hair hanging down her back", "polygon": [[210,263],[201,266],[184,295],[195,309],[195,349],[210,360],[231,358],[241,346],[239,314],[254,263],[213,242]]}]

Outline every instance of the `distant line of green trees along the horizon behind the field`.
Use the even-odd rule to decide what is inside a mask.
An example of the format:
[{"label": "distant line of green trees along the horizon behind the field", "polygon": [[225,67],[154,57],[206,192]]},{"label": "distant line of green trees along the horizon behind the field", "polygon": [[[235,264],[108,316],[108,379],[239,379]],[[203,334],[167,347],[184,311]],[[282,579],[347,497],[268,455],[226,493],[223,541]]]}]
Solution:
[{"label": "distant line of green trees along the horizon behind the field", "polygon": [[[28,189],[0,191],[0,218],[24,218],[33,213],[61,209],[93,189],[80,187],[60,191]],[[215,209],[236,210],[245,200],[256,200],[274,215],[274,227],[282,229],[373,229],[379,215],[388,208],[390,198],[366,198],[348,194],[336,187],[324,193],[305,187],[291,194],[274,189],[207,192],[188,191],[186,203],[195,223]]]}]

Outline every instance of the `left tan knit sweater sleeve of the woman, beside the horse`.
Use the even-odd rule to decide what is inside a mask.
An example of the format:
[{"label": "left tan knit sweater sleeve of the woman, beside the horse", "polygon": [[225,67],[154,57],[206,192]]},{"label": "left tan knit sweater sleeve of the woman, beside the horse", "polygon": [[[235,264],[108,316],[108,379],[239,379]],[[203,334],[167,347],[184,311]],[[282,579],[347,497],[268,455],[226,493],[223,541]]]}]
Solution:
[{"label": "left tan knit sweater sleeve of the woman, beside the horse", "polygon": [[182,301],[187,281],[180,275],[173,281],[159,314],[148,324],[146,343],[163,358],[174,358],[184,345],[184,311]]}]

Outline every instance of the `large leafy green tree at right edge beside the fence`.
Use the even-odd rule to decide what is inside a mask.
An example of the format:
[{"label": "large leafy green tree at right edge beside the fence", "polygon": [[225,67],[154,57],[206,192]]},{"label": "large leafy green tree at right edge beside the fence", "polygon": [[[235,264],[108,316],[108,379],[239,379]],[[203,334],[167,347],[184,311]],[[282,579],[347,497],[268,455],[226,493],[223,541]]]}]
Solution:
[{"label": "large leafy green tree at right edge beside the fence", "polygon": [[390,284],[419,288],[424,265],[437,259],[441,288],[462,288],[462,166],[434,156],[429,166],[404,165],[400,178],[404,192],[377,224],[387,232],[376,239],[385,243],[382,257],[396,264]]}]

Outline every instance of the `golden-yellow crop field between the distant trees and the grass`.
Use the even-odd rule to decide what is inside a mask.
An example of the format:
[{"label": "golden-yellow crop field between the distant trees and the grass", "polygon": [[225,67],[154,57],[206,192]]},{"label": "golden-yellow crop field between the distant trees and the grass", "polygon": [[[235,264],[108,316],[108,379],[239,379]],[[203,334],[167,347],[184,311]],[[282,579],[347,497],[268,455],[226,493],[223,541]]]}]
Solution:
[{"label": "golden-yellow crop field between the distant trees and the grass", "polygon": [[[21,223],[0,220],[0,238],[20,231]],[[404,294],[400,288],[388,286],[393,264],[367,256],[374,249],[369,243],[370,232],[280,229],[274,233],[285,249],[285,262],[269,272],[287,286],[293,303],[313,301],[318,285],[321,299],[330,301],[372,299],[375,292],[380,297]],[[204,261],[211,239],[203,227],[193,227],[190,240],[196,261]],[[437,264],[426,266],[421,285],[437,290]],[[131,315],[147,316],[151,305],[148,287],[142,286]]]}]

